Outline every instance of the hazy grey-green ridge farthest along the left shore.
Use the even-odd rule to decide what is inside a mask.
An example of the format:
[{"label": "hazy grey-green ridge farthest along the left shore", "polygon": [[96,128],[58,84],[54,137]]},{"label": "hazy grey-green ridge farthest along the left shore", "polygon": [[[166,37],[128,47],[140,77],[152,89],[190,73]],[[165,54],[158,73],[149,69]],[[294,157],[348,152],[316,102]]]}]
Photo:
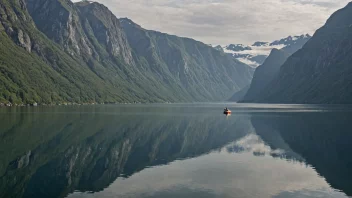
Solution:
[{"label": "hazy grey-green ridge farthest along the left shore", "polygon": [[144,73],[173,92],[184,91],[198,101],[222,100],[252,79],[252,68],[208,45],[146,30],[127,18],[120,22]]}]

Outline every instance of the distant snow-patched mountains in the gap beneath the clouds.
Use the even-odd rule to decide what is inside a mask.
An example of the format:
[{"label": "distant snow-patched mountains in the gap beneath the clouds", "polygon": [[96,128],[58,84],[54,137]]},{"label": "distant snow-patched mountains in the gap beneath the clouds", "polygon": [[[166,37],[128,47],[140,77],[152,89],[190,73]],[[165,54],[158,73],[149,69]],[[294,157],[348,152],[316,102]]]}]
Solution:
[{"label": "distant snow-patched mountains in the gap beneath the clouds", "polygon": [[[293,54],[298,49],[300,49],[310,38],[311,36],[309,34],[303,34],[301,36],[288,36],[271,43],[257,41],[251,46],[242,44],[230,44],[227,46],[221,46],[221,51],[231,54],[237,60],[252,67],[258,67],[264,63],[272,49],[285,49],[287,53]],[[215,49],[220,50],[219,46],[217,46]]]}]

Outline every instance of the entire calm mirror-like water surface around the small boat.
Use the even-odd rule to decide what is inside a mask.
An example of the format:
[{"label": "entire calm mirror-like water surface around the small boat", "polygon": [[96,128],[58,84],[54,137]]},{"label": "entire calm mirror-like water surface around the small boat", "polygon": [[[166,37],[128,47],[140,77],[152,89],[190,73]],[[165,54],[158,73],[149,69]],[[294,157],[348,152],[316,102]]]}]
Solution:
[{"label": "entire calm mirror-like water surface around the small boat", "polygon": [[0,126],[0,197],[352,196],[346,106],[1,108]]}]

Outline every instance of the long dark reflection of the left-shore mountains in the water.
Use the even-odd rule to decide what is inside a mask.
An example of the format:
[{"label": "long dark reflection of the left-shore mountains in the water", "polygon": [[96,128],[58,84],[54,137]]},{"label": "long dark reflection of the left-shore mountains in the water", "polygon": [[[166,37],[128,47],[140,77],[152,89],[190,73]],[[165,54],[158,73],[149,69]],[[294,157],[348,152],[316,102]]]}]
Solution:
[{"label": "long dark reflection of the left-shore mountains in the water", "polygon": [[248,117],[0,114],[0,197],[97,192],[118,177],[192,158],[245,136]]}]

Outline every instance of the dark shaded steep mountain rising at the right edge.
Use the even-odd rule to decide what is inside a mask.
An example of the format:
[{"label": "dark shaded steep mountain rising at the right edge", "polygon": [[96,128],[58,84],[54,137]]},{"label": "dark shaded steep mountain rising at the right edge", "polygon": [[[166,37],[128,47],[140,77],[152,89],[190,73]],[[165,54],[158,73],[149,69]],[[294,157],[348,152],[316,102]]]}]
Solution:
[{"label": "dark shaded steep mountain rising at the right edge", "polygon": [[352,102],[352,3],[326,24],[281,67],[255,102]]}]

